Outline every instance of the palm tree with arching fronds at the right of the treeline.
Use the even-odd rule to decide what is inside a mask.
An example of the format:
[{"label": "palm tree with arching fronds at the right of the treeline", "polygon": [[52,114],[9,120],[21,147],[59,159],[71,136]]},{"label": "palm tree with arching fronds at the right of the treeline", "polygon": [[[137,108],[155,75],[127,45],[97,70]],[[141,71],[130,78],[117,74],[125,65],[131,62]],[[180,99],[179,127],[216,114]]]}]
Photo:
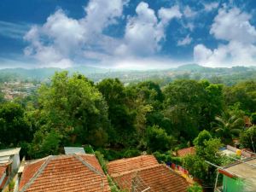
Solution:
[{"label": "palm tree with arching fronds at the right of the treeline", "polygon": [[232,143],[232,137],[238,137],[244,126],[244,120],[232,113],[222,113],[215,117],[215,131],[224,143]]}]

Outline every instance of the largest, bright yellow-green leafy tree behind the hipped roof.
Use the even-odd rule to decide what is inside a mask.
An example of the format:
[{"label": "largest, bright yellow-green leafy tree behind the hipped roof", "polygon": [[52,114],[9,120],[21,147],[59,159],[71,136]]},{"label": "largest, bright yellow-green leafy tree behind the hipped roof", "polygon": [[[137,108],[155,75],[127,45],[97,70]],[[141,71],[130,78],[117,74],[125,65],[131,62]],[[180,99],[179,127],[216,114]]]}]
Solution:
[{"label": "largest, bright yellow-green leafy tree behind the hipped roof", "polygon": [[[102,146],[108,140],[108,106],[102,94],[83,75],[55,73],[38,91],[42,134],[55,130],[61,143]],[[42,141],[44,142],[44,140]],[[38,144],[36,141],[33,144]],[[43,143],[39,144],[42,146]]]}]

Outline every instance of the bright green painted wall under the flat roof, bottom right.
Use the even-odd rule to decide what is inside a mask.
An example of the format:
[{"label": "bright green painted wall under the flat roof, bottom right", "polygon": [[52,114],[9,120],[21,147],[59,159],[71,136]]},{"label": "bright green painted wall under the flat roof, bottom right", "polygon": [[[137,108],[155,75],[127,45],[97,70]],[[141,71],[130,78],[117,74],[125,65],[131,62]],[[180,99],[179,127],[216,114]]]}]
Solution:
[{"label": "bright green painted wall under the flat roof, bottom right", "polygon": [[244,183],[239,178],[223,177],[224,192],[242,192],[244,191]]}]

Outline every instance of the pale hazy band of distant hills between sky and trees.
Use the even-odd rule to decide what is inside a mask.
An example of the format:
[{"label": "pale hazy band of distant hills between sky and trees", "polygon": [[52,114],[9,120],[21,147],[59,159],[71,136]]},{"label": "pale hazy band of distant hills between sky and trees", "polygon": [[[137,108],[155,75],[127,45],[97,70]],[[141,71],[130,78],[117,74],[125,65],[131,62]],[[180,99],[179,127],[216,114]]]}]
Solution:
[{"label": "pale hazy band of distant hills between sky and trees", "polygon": [[[159,70],[125,70],[100,67],[57,67],[49,68],[6,68],[0,70],[0,81],[45,81],[55,72],[68,71],[69,73],[82,73],[94,82],[106,78],[119,78],[124,83],[139,82],[143,80],[160,80],[166,83],[172,79],[214,79],[213,83],[235,84],[236,81],[255,79],[255,67],[203,67],[198,64],[187,64],[177,68]],[[222,80],[222,82],[218,82]]]}]

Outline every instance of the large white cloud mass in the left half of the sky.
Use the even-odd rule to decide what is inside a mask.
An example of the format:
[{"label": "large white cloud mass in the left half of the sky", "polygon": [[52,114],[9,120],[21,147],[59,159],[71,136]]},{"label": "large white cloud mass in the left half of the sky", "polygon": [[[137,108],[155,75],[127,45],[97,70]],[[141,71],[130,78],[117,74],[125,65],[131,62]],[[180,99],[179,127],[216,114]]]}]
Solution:
[{"label": "large white cloud mass in the left half of the sky", "polygon": [[[70,67],[84,51],[102,49],[108,54],[109,46],[116,44],[102,31],[122,16],[123,0],[90,0],[84,8],[86,16],[76,20],[61,9],[50,15],[43,26],[33,26],[24,39],[30,43],[24,50],[42,65]],[[108,49],[107,49],[108,44]]]}]

